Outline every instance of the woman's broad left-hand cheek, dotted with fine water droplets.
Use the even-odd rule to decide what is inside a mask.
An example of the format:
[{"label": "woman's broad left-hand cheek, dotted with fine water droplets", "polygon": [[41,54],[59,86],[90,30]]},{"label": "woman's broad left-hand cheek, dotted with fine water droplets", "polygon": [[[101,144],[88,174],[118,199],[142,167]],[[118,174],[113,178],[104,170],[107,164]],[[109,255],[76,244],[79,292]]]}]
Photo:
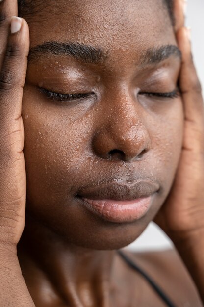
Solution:
[{"label": "woman's broad left-hand cheek, dotted with fine water droplets", "polygon": [[90,127],[84,119],[72,122],[65,113],[27,105],[29,110],[26,103],[23,110],[27,200],[44,208],[65,203],[85,180]]}]

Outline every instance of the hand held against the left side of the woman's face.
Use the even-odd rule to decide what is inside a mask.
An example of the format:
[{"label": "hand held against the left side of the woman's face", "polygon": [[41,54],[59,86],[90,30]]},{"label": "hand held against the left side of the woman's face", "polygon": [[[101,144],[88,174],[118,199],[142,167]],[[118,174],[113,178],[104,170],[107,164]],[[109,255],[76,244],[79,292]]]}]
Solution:
[{"label": "hand held against the left side of the woman's face", "polygon": [[[21,116],[29,31],[17,0],[0,1],[0,258],[16,253],[25,225],[26,169]],[[12,17],[12,18],[11,18]],[[14,32],[14,33],[11,33]],[[8,254],[7,254],[8,255]]]}]

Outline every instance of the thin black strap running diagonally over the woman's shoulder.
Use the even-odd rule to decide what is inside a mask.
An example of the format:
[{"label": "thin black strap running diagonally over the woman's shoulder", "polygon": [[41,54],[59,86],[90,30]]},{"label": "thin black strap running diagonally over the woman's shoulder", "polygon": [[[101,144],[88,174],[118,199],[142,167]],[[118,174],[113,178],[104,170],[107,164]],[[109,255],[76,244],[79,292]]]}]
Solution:
[{"label": "thin black strap running diagonally over the woman's shoulder", "polygon": [[161,290],[161,288],[150,278],[146,272],[144,272],[140,267],[138,267],[135,262],[133,262],[127,255],[125,255],[121,251],[117,251],[118,254],[125,260],[125,262],[135,271],[140,273],[152,286],[153,290],[160,296],[160,298],[164,301],[164,303],[168,307],[176,307],[172,301],[168,298],[168,296]]}]

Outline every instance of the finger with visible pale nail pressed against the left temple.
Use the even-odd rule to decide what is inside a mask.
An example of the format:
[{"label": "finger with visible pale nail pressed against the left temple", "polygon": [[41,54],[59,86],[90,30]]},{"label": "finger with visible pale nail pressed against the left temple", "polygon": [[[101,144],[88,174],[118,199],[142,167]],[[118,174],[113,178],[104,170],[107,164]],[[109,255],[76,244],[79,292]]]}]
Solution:
[{"label": "finger with visible pale nail pressed against the left temple", "polygon": [[[25,20],[12,17],[5,56],[0,70],[0,128],[21,117],[23,87],[29,52],[29,31]],[[9,125],[10,124],[10,125]]]}]

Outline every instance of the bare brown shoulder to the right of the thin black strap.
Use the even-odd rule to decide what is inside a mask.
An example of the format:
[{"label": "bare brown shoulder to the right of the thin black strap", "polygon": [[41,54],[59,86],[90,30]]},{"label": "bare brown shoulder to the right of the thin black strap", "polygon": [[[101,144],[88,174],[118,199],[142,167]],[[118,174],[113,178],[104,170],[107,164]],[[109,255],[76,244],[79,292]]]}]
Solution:
[{"label": "bare brown shoulder to the right of the thin black strap", "polygon": [[177,306],[202,307],[197,289],[176,250],[126,254]]}]

